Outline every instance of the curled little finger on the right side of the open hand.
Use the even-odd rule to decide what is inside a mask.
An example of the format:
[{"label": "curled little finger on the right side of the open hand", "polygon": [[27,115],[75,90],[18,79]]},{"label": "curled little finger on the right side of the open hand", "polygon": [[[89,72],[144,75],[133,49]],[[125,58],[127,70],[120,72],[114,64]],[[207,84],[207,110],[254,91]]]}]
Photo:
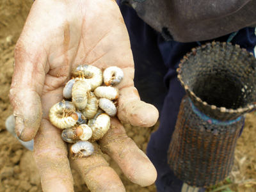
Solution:
[{"label": "curled little finger on the right side of the open hand", "polygon": [[156,124],[159,112],[152,104],[141,101],[136,88],[130,86],[120,90],[117,116],[124,123],[151,127]]}]

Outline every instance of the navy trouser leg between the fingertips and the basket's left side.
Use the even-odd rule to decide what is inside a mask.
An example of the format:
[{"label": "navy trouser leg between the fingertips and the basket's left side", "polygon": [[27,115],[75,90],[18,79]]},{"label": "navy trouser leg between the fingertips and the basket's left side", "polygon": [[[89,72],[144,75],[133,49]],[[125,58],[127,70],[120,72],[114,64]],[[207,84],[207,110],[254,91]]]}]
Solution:
[{"label": "navy trouser leg between the fingertips and the basket's left side", "polygon": [[151,134],[147,147],[147,156],[157,170],[157,191],[178,192],[181,191],[183,182],[175,177],[168,166],[166,152],[175,128],[180,102],[185,92],[177,76],[173,76],[170,79],[170,85],[161,111],[160,126],[156,132]]}]

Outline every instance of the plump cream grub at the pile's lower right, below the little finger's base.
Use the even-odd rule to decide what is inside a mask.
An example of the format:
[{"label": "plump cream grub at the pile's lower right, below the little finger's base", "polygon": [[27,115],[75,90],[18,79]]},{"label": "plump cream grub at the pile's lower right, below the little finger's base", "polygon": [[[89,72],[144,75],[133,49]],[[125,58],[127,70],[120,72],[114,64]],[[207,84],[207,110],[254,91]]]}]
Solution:
[{"label": "plump cream grub at the pile's lower right, below the little finger's base", "polygon": [[92,140],[99,140],[110,127],[110,117],[106,113],[100,114],[92,125]]}]

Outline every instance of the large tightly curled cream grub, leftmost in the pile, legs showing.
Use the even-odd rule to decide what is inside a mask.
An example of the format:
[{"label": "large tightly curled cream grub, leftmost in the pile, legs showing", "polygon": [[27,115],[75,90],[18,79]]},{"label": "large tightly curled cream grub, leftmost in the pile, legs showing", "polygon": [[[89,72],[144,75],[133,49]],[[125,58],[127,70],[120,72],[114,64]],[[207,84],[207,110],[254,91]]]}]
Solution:
[{"label": "large tightly curled cream grub, leftmost in the pile, legs showing", "polygon": [[58,102],[49,110],[49,120],[51,124],[60,129],[73,127],[77,119],[76,108],[74,104],[69,101]]}]

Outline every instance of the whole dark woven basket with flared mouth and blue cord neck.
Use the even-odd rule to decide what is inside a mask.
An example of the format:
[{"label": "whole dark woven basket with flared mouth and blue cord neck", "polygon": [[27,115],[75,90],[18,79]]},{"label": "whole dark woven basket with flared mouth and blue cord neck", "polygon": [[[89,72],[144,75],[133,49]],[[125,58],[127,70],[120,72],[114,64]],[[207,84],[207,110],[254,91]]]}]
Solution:
[{"label": "whole dark woven basket with flared mouth and blue cord neck", "polygon": [[168,164],[190,186],[206,188],[227,177],[244,116],[256,108],[256,60],[231,45],[212,42],[180,62],[186,90],[168,150]]}]

